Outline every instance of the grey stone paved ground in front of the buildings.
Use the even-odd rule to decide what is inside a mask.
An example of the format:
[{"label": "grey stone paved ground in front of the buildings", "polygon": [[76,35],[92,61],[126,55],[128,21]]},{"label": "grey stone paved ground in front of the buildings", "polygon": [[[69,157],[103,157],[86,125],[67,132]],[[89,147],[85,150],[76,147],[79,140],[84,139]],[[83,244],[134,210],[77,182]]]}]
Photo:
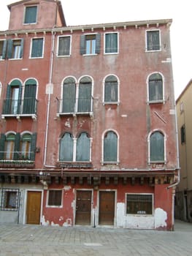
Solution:
[{"label": "grey stone paved ground in front of the buildings", "polygon": [[0,224],[0,256],[191,256],[192,224],[174,231]]}]

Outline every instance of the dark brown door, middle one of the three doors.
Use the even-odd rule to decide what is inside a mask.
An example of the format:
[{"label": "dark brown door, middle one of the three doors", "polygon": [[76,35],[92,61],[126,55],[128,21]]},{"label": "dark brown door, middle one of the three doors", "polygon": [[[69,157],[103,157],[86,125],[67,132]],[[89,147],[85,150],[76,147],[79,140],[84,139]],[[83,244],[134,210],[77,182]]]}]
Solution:
[{"label": "dark brown door, middle one of the three doors", "polygon": [[91,225],[91,191],[76,192],[76,225]]}]

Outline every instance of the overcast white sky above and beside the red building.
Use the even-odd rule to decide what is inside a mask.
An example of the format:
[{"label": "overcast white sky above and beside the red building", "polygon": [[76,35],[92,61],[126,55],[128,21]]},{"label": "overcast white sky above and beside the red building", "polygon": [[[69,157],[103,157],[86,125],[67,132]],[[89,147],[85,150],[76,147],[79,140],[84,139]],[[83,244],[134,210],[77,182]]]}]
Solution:
[{"label": "overcast white sky above and beside the red building", "polygon": [[[0,30],[8,29],[7,4],[0,0]],[[172,67],[175,99],[192,78],[191,0],[61,0],[67,26],[172,18]]]}]

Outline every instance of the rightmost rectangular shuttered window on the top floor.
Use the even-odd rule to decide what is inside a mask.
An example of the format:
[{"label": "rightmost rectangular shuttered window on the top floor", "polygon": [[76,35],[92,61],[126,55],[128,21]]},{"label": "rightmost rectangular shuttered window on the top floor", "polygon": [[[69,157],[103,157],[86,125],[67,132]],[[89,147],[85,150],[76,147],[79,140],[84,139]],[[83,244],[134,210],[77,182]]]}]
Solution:
[{"label": "rightmost rectangular shuttered window on the top floor", "polygon": [[160,50],[160,31],[147,31],[147,50]]}]

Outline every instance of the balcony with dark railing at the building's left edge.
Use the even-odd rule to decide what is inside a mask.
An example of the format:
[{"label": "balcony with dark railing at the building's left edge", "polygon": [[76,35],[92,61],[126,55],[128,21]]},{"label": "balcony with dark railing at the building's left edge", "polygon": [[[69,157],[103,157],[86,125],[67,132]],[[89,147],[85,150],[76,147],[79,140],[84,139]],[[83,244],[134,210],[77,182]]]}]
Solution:
[{"label": "balcony with dark railing at the building's left edge", "polygon": [[37,119],[37,99],[4,99],[3,111],[1,118],[16,117],[20,120],[21,117],[31,117]]}]

